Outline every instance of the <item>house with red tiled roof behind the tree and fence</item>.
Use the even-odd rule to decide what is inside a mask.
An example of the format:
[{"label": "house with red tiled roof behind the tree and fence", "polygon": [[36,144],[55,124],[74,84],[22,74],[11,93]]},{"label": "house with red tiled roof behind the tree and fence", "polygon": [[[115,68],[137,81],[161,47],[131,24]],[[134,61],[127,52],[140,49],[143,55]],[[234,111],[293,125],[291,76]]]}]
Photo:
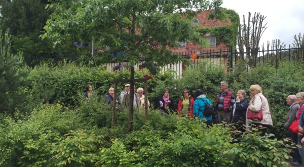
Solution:
[{"label": "house with red tiled roof behind the tree and fence", "polygon": [[[226,20],[208,19],[209,14],[212,11],[213,10],[206,10],[197,13],[197,16],[193,20],[194,24],[198,24],[198,26],[202,28],[202,32],[205,32],[206,30],[203,29],[206,28],[210,30],[210,32],[204,33],[204,37],[207,39],[210,45],[209,47],[202,48],[200,45],[194,44],[192,41],[188,41],[188,42],[176,41],[176,43],[179,43],[180,47],[170,49],[173,53],[178,54],[186,59],[190,59],[192,63],[191,66],[196,66],[201,62],[209,61],[213,64],[220,64],[223,65],[224,67],[227,67],[227,63],[228,63],[227,55],[228,55],[229,45],[227,45],[225,40],[223,40],[223,36],[225,34],[221,34],[221,32],[217,32],[217,29],[229,27],[232,24],[232,19],[231,18],[227,18]],[[217,32],[217,34],[212,32]],[[229,33],[229,31],[223,31],[223,32]],[[236,34],[233,34],[231,36],[233,36],[232,38],[235,38],[232,40],[236,40]],[[191,59],[192,55],[195,53],[197,53],[198,56],[195,59]],[[135,69],[141,69],[142,68],[141,64],[142,63],[140,62],[136,64]],[[127,62],[106,63],[106,68],[109,71],[114,71],[115,67],[118,66],[121,66],[121,69],[128,69]],[[182,71],[186,68],[188,68],[188,66],[184,65],[182,62],[179,62],[176,64],[168,64],[167,66],[161,69],[161,72],[164,72],[168,69],[172,69],[173,71],[175,71],[176,77],[181,77]]]}]

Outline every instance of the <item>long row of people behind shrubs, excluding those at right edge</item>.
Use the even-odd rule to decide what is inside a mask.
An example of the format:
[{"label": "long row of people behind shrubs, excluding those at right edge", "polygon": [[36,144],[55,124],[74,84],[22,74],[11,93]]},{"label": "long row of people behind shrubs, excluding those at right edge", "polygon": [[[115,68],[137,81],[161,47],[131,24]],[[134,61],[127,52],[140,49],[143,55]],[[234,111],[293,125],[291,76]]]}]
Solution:
[{"label": "long row of people behind shrubs, excluding those at right edge", "polygon": [[[252,127],[264,127],[261,128],[261,134],[264,135],[267,127],[272,126],[272,118],[269,110],[269,105],[267,98],[262,94],[262,89],[259,85],[252,85],[250,90],[250,100],[246,99],[246,92],[244,90],[239,90],[237,92],[236,98],[233,92],[228,89],[229,84],[226,81],[220,82],[220,92],[217,93],[215,104],[206,97],[204,92],[200,89],[195,91],[194,97],[191,93],[184,89],[177,105],[177,114],[179,116],[186,116],[191,118],[196,118],[200,121],[206,122],[208,126],[212,123],[220,122],[231,122],[236,125],[236,128],[243,130],[243,125]],[[85,97],[89,98],[92,93],[92,86],[87,86],[88,91],[85,93]],[[120,93],[117,98],[117,104],[119,108],[129,108],[130,107],[130,84],[125,85],[125,90]],[[108,95],[105,96],[104,100],[111,104],[113,101],[114,88],[110,88]],[[148,106],[150,105],[147,101]],[[134,100],[133,107],[144,108],[145,98],[143,95],[143,88],[138,88],[136,90],[134,86]],[[213,114],[204,114],[206,106],[212,105],[214,108]],[[175,109],[173,104],[173,99],[169,96],[169,90],[165,89],[163,91],[163,96],[159,99],[159,111],[161,114],[173,113]],[[248,119],[247,110],[253,112],[262,112],[262,119]],[[304,123],[304,121],[303,121]]]}]

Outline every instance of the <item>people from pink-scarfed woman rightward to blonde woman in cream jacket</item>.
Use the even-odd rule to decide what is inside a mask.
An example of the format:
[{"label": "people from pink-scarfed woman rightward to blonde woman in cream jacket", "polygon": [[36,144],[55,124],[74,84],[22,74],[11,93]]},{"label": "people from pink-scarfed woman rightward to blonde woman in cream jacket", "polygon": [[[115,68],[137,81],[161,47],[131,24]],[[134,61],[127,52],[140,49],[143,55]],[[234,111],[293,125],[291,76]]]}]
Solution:
[{"label": "people from pink-scarfed woman rightward to blonde woman in cream jacket", "polygon": [[[213,114],[213,116],[204,115],[207,104],[212,105],[212,103],[202,90],[196,90],[194,95],[195,98],[193,98],[189,95],[189,91],[184,89],[178,102],[178,114],[180,116],[196,116],[199,120],[205,121],[208,126],[212,123],[230,122],[234,123],[239,130],[243,129],[244,124],[252,127],[265,127],[260,128],[260,135],[264,135],[267,127],[272,126],[273,122],[268,101],[263,96],[261,87],[259,85],[252,85],[249,88],[251,93],[250,101],[246,99],[246,92],[244,90],[239,90],[237,92],[237,97],[234,98],[233,92],[231,92],[228,87],[229,84],[226,81],[220,82],[221,91],[217,93],[215,104],[213,105],[215,110],[215,114]],[[170,99],[169,90],[164,91],[163,99],[165,98],[168,100]],[[169,100],[169,102],[171,101],[172,99]],[[162,104],[160,108],[162,109]],[[247,119],[248,109],[253,112],[262,112],[262,119]]]}]

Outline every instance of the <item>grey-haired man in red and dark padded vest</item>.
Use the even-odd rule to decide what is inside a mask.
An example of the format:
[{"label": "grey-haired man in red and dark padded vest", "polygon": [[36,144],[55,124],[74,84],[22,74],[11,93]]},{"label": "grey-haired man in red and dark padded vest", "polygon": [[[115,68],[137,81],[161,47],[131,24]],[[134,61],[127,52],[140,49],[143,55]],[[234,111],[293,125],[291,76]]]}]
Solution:
[{"label": "grey-haired man in red and dark padded vest", "polygon": [[229,107],[235,103],[233,93],[228,90],[228,82],[220,82],[220,92],[217,93],[215,99],[215,109],[217,110],[218,121],[229,122]]}]

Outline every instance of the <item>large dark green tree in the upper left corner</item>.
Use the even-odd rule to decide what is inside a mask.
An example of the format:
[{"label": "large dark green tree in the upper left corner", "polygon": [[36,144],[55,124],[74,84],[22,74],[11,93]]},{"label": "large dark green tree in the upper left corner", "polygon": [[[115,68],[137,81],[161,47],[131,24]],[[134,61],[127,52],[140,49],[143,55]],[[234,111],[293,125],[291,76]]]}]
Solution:
[{"label": "large dark green tree in the upper left corner", "polygon": [[47,0],[0,1],[0,26],[3,31],[10,29],[11,52],[23,52],[28,65],[50,58],[70,57],[75,52],[72,41],[53,48],[49,40],[39,37],[52,13],[45,10],[47,4]]}]

